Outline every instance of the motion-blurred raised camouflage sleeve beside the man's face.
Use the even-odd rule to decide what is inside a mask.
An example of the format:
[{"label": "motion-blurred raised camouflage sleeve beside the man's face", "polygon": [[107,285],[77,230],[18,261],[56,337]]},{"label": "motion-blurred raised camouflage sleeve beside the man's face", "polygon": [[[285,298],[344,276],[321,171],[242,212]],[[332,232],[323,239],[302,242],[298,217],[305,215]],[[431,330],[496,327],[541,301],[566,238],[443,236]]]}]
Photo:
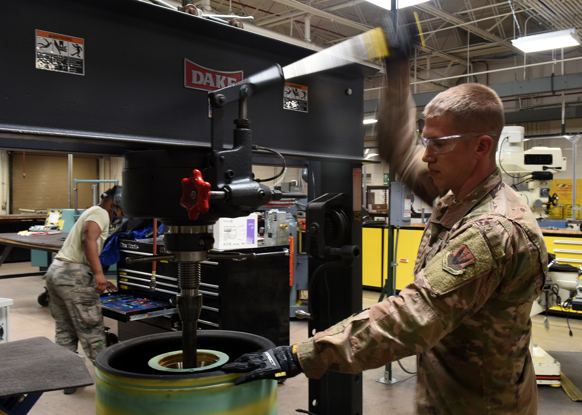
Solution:
[{"label": "motion-blurred raised camouflage sleeve beside the man's face", "polygon": [[422,157],[424,148],[414,145],[416,105],[410,95],[408,61],[387,63],[384,86],[378,104],[378,152],[390,163],[404,183],[430,205],[439,189],[428,174]]}]

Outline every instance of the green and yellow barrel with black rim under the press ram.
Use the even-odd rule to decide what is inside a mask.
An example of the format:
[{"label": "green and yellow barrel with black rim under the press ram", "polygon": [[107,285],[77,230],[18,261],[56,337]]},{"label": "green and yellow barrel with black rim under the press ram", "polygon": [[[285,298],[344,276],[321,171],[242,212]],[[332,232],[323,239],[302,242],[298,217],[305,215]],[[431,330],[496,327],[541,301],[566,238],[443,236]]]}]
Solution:
[{"label": "green and yellow barrel with black rim under the press ram", "polygon": [[180,369],[182,332],[148,335],[115,344],[95,359],[97,415],[276,415],[277,383],[235,386],[240,374],[222,364],[275,345],[254,334],[198,331],[196,369]]}]

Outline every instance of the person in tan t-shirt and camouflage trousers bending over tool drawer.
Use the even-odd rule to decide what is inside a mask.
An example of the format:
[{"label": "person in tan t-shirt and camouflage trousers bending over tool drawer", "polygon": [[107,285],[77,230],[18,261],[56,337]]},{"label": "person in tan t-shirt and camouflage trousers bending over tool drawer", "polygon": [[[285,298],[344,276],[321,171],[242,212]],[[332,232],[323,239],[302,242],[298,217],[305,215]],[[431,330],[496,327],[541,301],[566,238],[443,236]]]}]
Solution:
[{"label": "person in tan t-shirt and camouflage trousers bending over tool drawer", "polygon": [[105,279],[99,256],[109,224],[119,223],[123,217],[121,193],[120,186],[108,189],[97,206],[81,214],[46,275],[49,307],[56,323],[55,343],[76,353],[80,341],[91,362],[106,345],[100,294],[117,289]]}]

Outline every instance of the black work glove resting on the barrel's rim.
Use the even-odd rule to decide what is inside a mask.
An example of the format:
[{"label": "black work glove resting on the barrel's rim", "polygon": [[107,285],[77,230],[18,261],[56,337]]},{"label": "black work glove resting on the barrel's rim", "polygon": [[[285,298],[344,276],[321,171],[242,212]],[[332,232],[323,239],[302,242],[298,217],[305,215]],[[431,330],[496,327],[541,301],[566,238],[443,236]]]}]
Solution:
[{"label": "black work glove resting on the barrel's rim", "polygon": [[237,378],[235,385],[258,379],[286,379],[303,373],[297,359],[297,345],[245,353],[221,369],[225,372],[249,372]]}]

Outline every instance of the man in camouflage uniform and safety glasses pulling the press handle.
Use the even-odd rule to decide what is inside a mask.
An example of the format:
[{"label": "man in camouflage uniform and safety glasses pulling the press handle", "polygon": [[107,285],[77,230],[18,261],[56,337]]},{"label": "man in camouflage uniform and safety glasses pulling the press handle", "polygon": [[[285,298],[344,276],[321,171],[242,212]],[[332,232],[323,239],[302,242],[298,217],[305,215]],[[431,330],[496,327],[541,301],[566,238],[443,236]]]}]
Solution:
[{"label": "man in camouflage uniform and safety glasses pulling the press handle", "polygon": [[[381,99],[384,109],[379,112],[379,151],[418,195],[430,201],[446,181],[435,170],[454,170],[443,167],[445,157],[437,162],[445,154],[435,156],[430,149],[424,152],[422,146],[414,146],[416,109],[409,94],[407,62],[400,70],[400,76],[395,76],[395,70],[386,71],[390,77]],[[441,101],[454,106],[455,94],[461,101],[485,88],[474,85],[451,88],[446,92],[449,101]],[[494,92],[489,95],[500,108],[501,126],[487,129],[500,132],[501,101]],[[479,105],[478,99],[469,100]],[[425,133],[429,121],[432,131],[450,133],[429,138],[487,131],[482,129],[487,119],[471,125],[452,122],[454,109],[438,115],[439,120],[429,120],[427,115]],[[453,140],[469,143],[472,139]],[[471,151],[482,151],[478,146],[487,139],[491,140],[477,137],[478,144],[467,144],[467,153],[457,149],[452,162],[459,176],[464,174],[463,163],[472,162]],[[298,358],[307,377],[320,378],[326,370],[359,373],[417,355],[420,414],[537,414],[537,385],[528,348],[530,310],[545,280],[547,253],[531,210],[495,169],[491,157],[495,148],[494,140],[491,164],[485,164],[493,166],[489,177],[472,190],[464,189],[460,200],[449,191],[438,202],[421,239],[414,282],[398,296],[299,344]],[[454,173],[450,177],[449,181],[471,183],[471,177],[455,178]]]}]

